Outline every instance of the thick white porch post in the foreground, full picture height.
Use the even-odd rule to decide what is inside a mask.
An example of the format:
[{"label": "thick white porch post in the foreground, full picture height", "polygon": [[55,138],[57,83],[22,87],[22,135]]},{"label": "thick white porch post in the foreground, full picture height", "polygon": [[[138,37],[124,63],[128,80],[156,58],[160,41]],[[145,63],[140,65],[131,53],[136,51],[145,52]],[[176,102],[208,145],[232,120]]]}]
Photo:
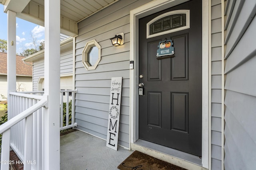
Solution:
[{"label": "thick white porch post in the foreground, full picture height", "polygon": [[60,0],[44,0],[44,167],[60,169]]}]

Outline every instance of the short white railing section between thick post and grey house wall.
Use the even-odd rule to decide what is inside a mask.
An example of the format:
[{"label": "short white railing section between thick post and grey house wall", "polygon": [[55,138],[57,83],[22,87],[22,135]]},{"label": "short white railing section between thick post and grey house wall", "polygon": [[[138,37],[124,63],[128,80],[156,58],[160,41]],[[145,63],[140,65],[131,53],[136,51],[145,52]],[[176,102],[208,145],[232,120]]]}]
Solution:
[{"label": "short white railing section between thick post and grey house wall", "polygon": [[[75,123],[75,93],[77,90],[60,90],[60,130],[76,127]],[[65,94],[65,95],[64,95]],[[70,112],[71,104],[71,112]],[[66,105],[66,111],[63,106]],[[66,116],[65,116],[66,112]],[[71,122],[69,120],[71,119]]]}]

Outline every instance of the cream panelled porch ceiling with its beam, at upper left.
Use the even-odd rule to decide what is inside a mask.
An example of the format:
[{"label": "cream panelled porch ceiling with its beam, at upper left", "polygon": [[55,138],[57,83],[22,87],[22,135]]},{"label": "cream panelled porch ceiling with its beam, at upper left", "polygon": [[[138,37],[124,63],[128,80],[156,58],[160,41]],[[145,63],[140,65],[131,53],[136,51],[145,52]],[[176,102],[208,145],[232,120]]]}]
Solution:
[{"label": "cream panelled porch ceiling with its beam, at upper left", "polygon": [[[60,0],[60,32],[78,34],[77,23],[118,0]],[[18,2],[23,2],[23,6]],[[5,12],[12,10],[18,18],[44,26],[44,0],[0,0]]]}]

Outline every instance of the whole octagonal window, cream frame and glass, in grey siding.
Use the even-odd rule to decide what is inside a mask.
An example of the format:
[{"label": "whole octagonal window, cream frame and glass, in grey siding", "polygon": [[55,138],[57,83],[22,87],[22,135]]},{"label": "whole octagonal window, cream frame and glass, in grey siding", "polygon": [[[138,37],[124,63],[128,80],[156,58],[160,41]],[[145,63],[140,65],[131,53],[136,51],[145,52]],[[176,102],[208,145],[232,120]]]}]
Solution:
[{"label": "whole octagonal window, cream frame and glass, in grey siding", "polygon": [[82,62],[87,70],[94,70],[100,62],[100,45],[96,40],[88,41],[82,52]]}]

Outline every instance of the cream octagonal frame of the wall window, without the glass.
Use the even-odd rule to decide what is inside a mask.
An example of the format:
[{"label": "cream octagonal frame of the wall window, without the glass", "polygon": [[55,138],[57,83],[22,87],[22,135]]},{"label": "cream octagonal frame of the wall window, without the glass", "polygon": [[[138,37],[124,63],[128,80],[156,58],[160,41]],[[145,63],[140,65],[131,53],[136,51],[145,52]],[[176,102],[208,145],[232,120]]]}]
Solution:
[{"label": "cream octagonal frame of the wall window, without the glass", "polygon": [[[91,66],[91,64],[88,62],[88,52],[90,51],[90,49],[92,47],[96,46],[98,48],[98,59],[96,61],[96,63]],[[97,41],[94,39],[92,41],[88,41],[83,49],[82,52],[82,63],[84,64],[84,67],[86,68],[86,70],[95,70],[96,67],[98,66],[98,64],[100,63],[100,59],[101,59],[101,51],[100,51],[100,45],[97,43]]]}]

